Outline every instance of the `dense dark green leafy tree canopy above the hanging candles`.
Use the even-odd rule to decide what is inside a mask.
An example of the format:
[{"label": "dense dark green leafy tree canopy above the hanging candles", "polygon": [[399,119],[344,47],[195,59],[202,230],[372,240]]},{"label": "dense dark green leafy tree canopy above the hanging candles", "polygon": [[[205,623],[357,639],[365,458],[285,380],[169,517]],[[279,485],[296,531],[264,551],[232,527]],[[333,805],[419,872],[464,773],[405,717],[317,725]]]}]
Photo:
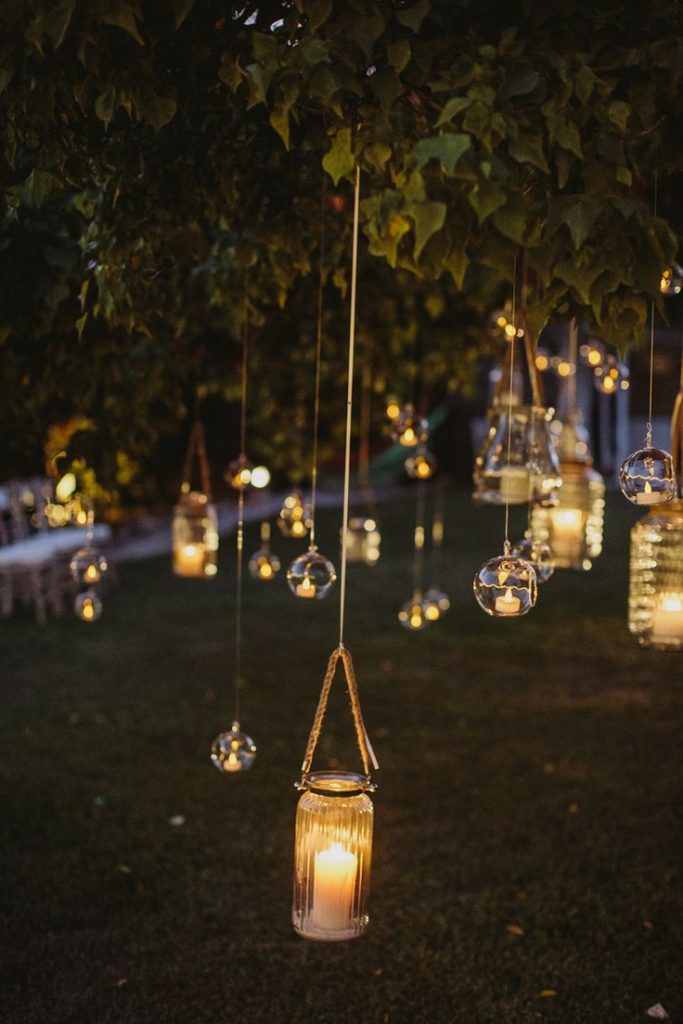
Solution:
[{"label": "dense dark green leafy tree canopy above the hanging candles", "polygon": [[296,461],[322,209],[330,413],[341,390],[356,161],[378,386],[412,388],[418,352],[428,377],[470,379],[515,265],[536,332],[577,315],[637,342],[683,233],[680,16],[666,2],[0,0],[14,463],[82,414],[114,478],[116,453],[147,456],[197,387],[233,396],[245,282],[253,429]]}]

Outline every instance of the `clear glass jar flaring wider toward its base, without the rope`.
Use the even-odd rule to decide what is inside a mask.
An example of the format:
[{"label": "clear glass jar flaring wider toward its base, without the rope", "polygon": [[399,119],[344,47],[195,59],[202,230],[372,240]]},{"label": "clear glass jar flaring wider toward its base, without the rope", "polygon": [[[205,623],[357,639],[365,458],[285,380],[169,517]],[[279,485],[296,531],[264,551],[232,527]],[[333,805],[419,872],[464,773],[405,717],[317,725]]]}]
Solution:
[{"label": "clear glass jar flaring wider toward its base, without the rope", "polygon": [[474,468],[475,501],[524,505],[554,495],[562,476],[550,432],[553,412],[537,406],[492,411]]}]

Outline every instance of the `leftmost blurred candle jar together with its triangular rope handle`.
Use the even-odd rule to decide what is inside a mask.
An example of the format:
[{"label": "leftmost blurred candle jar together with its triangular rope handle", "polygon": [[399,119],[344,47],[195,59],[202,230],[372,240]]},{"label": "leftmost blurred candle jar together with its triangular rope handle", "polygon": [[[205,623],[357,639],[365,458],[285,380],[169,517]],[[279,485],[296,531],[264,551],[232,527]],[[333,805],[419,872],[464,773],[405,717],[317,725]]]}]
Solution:
[{"label": "leftmost blurred candle jar together with its triangular rope handle", "polygon": [[[191,489],[193,461],[200,465],[202,489]],[[218,516],[211,501],[204,428],[193,426],[178,504],[173,510],[173,571],[176,575],[210,580],[218,572]]]}]

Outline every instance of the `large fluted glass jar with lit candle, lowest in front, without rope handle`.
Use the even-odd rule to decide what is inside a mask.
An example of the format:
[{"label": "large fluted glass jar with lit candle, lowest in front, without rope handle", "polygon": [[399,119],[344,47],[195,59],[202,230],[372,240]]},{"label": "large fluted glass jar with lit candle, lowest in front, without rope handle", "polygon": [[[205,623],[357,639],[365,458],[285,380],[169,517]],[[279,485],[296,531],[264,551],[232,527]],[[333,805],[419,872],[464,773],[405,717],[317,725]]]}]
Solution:
[{"label": "large fluted glass jar with lit candle, lowest in front, without rope handle", "polygon": [[368,928],[373,802],[367,776],[310,772],[301,781],[294,843],[295,931],[306,939],[355,939]]}]

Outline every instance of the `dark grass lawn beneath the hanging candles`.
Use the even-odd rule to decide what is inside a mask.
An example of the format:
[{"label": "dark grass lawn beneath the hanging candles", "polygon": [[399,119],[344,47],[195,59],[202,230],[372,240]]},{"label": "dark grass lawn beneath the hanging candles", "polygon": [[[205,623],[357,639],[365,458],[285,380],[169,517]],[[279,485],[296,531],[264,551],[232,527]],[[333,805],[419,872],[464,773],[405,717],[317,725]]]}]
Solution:
[{"label": "dark grass lawn beneath the hanging candles", "polygon": [[[231,720],[231,542],[207,583],[167,560],[122,566],[94,626],[0,623],[4,1024],[630,1024],[656,1002],[683,1020],[683,656],[627,632],[637,514],[613,496],[593,572],[557,573],[501,622],[471,577],[500,550],[502,511],[455,493],[447,511],[453,606],[424,633],[396,621],[412,496],[380,508],[379,564],[349,567],[381,765],[355,942],[290,924],[292,783],[338,593],[298,602],[282,579],[248,581],[259,753],[243,776],[208,759]],[[338,521],[321,515],[326,553]],[[301,544],[273,547],[287,563]],[[319,767],[349,745],[341,685],[332,712]]]}]

